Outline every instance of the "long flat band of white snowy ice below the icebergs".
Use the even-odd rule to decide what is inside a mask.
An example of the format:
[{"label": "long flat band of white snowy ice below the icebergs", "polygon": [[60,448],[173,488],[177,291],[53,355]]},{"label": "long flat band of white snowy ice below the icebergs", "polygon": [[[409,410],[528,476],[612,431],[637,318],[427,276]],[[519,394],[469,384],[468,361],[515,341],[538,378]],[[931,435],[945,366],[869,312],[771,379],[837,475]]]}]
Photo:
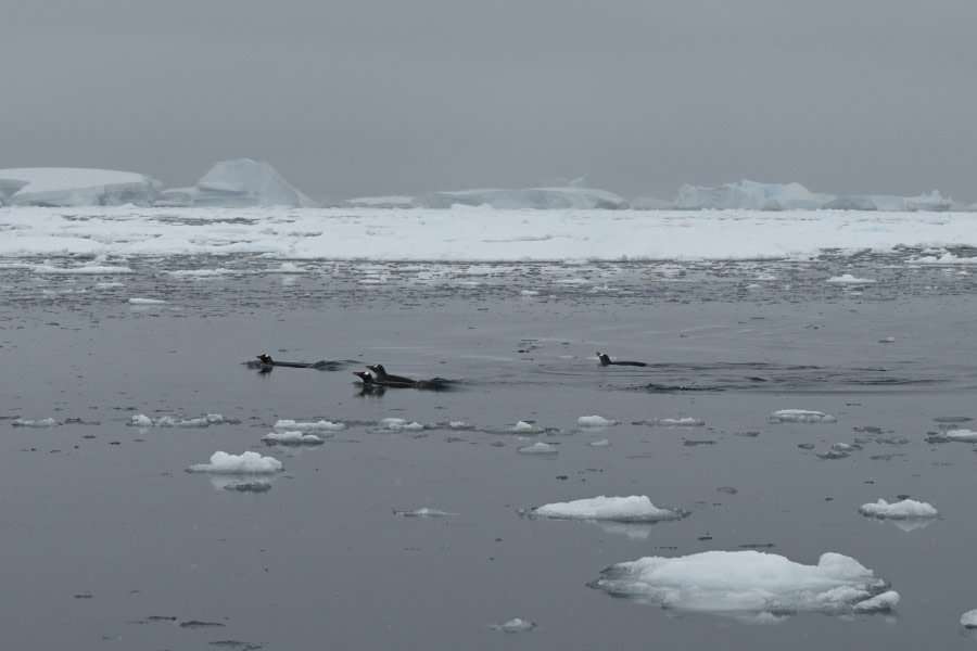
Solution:
[{"label": "long flat band of white snowy ice below the icebergs", "polygon": [[[581,209],[528,214],[467,206],[444,210],[115,206],[73,208],[66,214],[58,208],[4,207],[0,231],[3,257],[261,254],[293,264],[619,263],[808,260],[823,251],[873,251],[902,254],[906,264],[913,264],[921,252],[942,260],[946,253],[977,247],[977,214]],[[916,251],[903,254],[906,248]],[[77,265],[72,261],[71,267]],[[101,266],[105,268],[77,272],[124,272]],[[66,271],[51,265],[50,272]]]}]

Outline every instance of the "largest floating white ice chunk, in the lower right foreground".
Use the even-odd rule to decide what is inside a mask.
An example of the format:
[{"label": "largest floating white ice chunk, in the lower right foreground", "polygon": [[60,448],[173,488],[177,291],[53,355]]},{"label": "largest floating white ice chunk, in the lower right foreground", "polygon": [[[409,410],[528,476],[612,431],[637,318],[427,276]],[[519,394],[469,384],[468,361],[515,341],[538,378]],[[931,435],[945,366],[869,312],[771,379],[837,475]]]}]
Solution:
[{"label": "largest floating white ice chunk, in the lower right foreground", "polygon": [[715,613],[877,612],[899,599],[886,580],[838,553],[822,554],[816,565],[753,550],[646,557],[611,565],[591,585],[663,608]]}]

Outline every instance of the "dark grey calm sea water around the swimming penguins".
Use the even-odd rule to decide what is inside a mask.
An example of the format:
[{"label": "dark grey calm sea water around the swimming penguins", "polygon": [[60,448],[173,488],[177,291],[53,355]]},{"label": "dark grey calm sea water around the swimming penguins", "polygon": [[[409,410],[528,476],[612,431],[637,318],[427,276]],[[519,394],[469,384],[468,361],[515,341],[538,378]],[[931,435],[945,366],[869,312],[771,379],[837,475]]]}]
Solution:
[{"label": "dark grey calm sea water around the swimming penguins", "polygon": [[[872,256],[309,263],[302,275],[243,257],[127,264],[136,272],[117,277],[0,268],[4,649],[977,643],[959,624],[977,608],[977,456],[927,441],[977,424],[965,420],[977,418],[965,269]],[[230,271],[169,273],[199,268]],[[875,282],[826,282],[842,273]],[[601,368],[596,350],[652,366]],[[242,365],[258,353],[348,363],[262,374]],[[351,371],[369,362],[457,384],[363,394]],[[781,409],[837,420],[772,422]],[[238,422],[131,426],[140,413]],[[578,425],[594,414],[621,424]],[[47,418],[62,424],[12,424]],[[703,424],[655,424],[683,418]],[[347,427],[321,446],[265,446],[279,419]],[[546,432],[506,432],[519,421]],[[587,445],[601,438],[611,445]],[[536,441],[559,454],[517,454]],[[817,457],[835,443],[861,449]],[[217,450],[261,451],[284,472],[257,494],[183,472]],[[690,515],[624,526],[518,513],[598,495]],[[897,495],[940,519],[903,531],[858,513]],[[396,513],[421,508],[451,515]],[[746,548],[807,564],[851,556],[902,601],[889,615],[764,626],[587,587],[621,561]],[[491,628],[512,617],[538,628]]]}]

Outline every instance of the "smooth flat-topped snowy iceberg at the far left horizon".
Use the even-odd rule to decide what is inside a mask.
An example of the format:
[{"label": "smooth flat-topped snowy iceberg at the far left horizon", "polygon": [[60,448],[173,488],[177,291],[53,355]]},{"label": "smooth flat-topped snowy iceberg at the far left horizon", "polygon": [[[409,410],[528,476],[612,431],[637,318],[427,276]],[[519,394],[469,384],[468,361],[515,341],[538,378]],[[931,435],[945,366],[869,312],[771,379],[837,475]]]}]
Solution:
[{"label": "smooth flat-topped snowy iceberg at the far left horizon", "polygon": [[80,167],[0,169],[0,205],[151,206],[163,184],[144,174]]}]

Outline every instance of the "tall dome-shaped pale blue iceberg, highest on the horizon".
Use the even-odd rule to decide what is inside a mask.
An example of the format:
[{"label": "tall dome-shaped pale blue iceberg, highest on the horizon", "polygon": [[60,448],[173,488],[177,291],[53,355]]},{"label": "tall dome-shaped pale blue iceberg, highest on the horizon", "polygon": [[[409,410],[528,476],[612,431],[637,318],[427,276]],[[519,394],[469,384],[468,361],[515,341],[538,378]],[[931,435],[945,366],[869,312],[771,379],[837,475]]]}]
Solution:
[{"label": "tall dome-shaped pale blue iceberg, highest on the horizon", "polygon": [[220,161],[193,188],[173,188],[160,196],[160,206],[317,207],[312,199],[295,190],[264,161],[233,158]]}]

